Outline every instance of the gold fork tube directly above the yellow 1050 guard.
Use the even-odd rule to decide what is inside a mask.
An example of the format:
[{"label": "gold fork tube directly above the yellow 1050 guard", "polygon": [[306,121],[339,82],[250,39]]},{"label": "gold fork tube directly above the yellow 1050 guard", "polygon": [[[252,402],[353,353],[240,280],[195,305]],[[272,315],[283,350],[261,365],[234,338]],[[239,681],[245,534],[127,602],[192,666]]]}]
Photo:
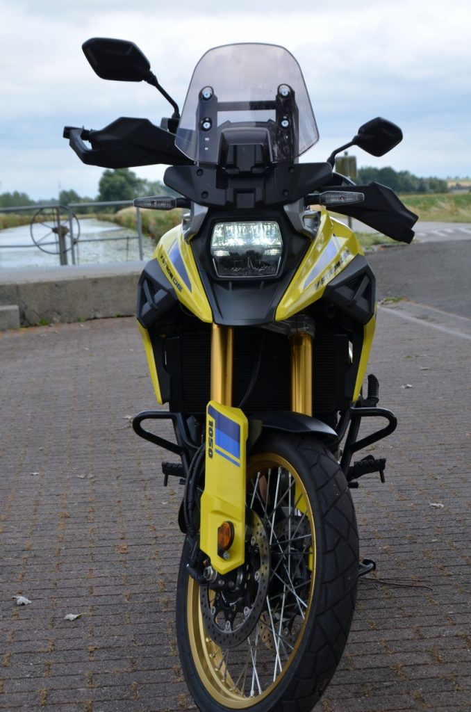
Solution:
[{"label": "gold fork tube directly above the yellow 1050 guard", "polygon": [[213,324],[211,331],[211,400],[232,405],[234,330]]}]

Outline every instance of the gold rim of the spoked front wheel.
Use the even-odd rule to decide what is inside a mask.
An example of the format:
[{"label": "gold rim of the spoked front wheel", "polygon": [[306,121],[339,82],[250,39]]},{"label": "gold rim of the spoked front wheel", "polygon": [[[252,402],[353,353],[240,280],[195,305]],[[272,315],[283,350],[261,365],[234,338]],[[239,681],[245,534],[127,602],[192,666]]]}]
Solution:
[{"label": "gold rim of the spoked front wheel", "polygon": [[[271,609],[270,603],[267,603],[268,611],[269,611],[269,617],[265,619],[265,621],[262,621],[262,617],[260,617],[259,622],[256,627],[256,634],[254,634],[254,644],[255,644],[255,662],[254,662],[254,649],[253,646],[250,644],[250,636],[248,638],[248,641],[246,642],[246,649],[245,649],[245,655],[246,658],[248,659],[248,664],[245,665],[245,674],[243,676],[243,682],[240,682],[240,674],[238,675],[238,679],[235,678],[235,672],[231,670],[231,654],[233,651],[228,651],[228,650],[223,650],[221,649],[220,646],[218,646],[213,640],[211,640],[210,637],[208,637],[208,634],[206,632],[206,628],[203,624],[203,617],[201,614],[201,604],[200,604],[200,595],[199,595],[199,585],[196,584],[193,578],[189,577],[188,579],[188,590],[187,590],[187,597],[186,597],[186,621],[188,624],[188,632],[189,632],[189,643],[191,646],[191,654],[192,658],[194,661],[194,665],[196,666],[196,671],[199,676],[199,679],[201,680],[203,686],[205,687],[206,691],[210,694],[210,696],[218,703],[220,703],[223,706],[226,706],[226,708],[229,709],[246,709],[249,707],[254,706],[255,704],[258,704],[260,701],[268,697],[275,689],[280,685],[280,682],[282,679],[285,677],[285,674],[287,671],[290,669],[292,666],[293,661],[296,658],[297,650],[299,649],[300,643],[303,639],[304,633],[305,633],[305,627],[307,624],[307,620],[309,619],[309,611],[311,608],[311,602],[312,602],[312,594],[314,590],[314,582],[315,582],[315,574],[316,574],[316,561],[315,561],[315,551],[316,551],[316,541],[315,541],[315,530],[314,530],[314,515],[312,513],[312,506],[309,502],[309,497],[307,496],[307,491],[305,488],[304,483],[302,483],[302,480],[295,471],[295,468],[293,468],[290,463],[283,458],[282,456],[275,454],[275,453],[263,453],[263,454],[258,454],[256,456],[253,456],[249,459],[248,461],[248,471],[247,471],[247,480],[248,480],[248,496],[253,496],[253,501],[255,501],[255,498],[257,495],[253,494],[253,491],[250,495],[250,491],[252,488],[257,491],[257,487],[260,488],[261,491],[261,486],[260,482],[263,481],[263,478],[267,478],[267,473],[272,472],[274,469],[277,470],[277,485],[279,486],[280,484],[280,478],[282,476],[285,476],[285,473],[288,475],[288,488],[284,493],[284,496],[288,495],[288,498],[292,497],[292,492],[295,494],[295,498],[292,499],[292,504],[290,508],[290,512],[292,513],[297,513],[296,516],[298,519],[301,521],[303,518],[307,523],[309,524],[309,535],[302,535],[303,538],[307,539],[307,542],[304,543],[306,545],[309,543],[309,538],[310,538],[310,546],[308,550],[305,550],[302,553],[302,559],[304,559],[304,564],[306,566],[306,560],[308,561],[307,563],[307,568],[310,570],[311,575],[310,575],[310,582],[309,582],[309,593],[307,595],[307,601],[302,602],[302,606],[300,601],[297,601],[298,597],[295,592],[295,586],[293,585],[293,591],[290,591],[290,588],[287,587],[285,590],[285,593],[283,595],[282,601],[285,601],[285,597],[288,593],[294,593],[294,600],[297,603],[297,606],[300,608],[300,614],[302,616],[302,610],[305,605],[305,613],[304,616],[302,617],[302,620],[299,623],[299,629],[297,629],[297,634],[296,638],[292,639],[292,641],[289,644],[290,647],[290,654],[287,655],[286,653],[286,647],[285,643],[282,643],[282,635],[281,635],[281,626],[283,622],[283,608],[281,609],[281,615],[280,615],[280,626],[279,626],[279,633],[276,632],[276,627],[274,625],[274,619],[273,619],[273,612]],[[263,475],[261,474],[263,473]],[[269,475],[271,477],[271,474]],[[255,481],[255,485],[253,484]],[[293,483],[294,482],[294,486]],[[268,481],[268,489],[270,488],[270,481]],[[277,488],[278,490],[278,488]],[[280,495],[281,496],[281,495]],[[253,504],[253,502],[252,502]],[[275,499],[275,508],[274,511],[276,513],[277,509],[276,499]],[[298,514],[300,513],[300,514]],[[292,515],[290,513],[290,520],[292,518]],[[272,522],[275,521],[275,515],[273,515]],[[298,524],[298,530],[300,528],[301,524]],[[276,546],[280,546],[280,544],[277,541],[277,535],[275,534],[276,526],[272,527],[273,534],[272,536],[275,537]],[[295,532],[296,534],[296,532]],[[294,539],[293,539],[294,540]],[[270,539],[270,543],[271,543]],[[291,550],[291,542],[292,540],[288,540],[288,551],[290,552]],[[280,549],[281,550],[281,549]],[[290,556],[290,553],[289,553]],[[283,553],[281,554],[280,560],[282,561],[284,559]],[[290,559],[289,559],[290,560]],[[298,567],[300,564],[298,564]],[[285,567],[285,562],[282,561],[282,567]],[[276,576],[276,571],[275,571],[275,576]],[[291,582],[290,575],[289,575],[289,568],[287,570],[287,577]],[[280,578],[280,576],[278,576]],[[294,576],[293,576],[294,579]],[[278,597],[280,594],[277,595]],[[270,597],[270,594],[267,596],[267,599]],[[261,634],[260,634],[261,630]],[[285,631],[286,632],[286,631]],[[275,669],[273,671],[273,680],[270,684],[266,684],[266,686],[261,688],[260,685],[260,679],[258,676],[258,670],[257,670],[257,656],[258,656],[258,651],[260,650],[260,642],[263,644],[265,648],[270,649],[269,644],[266,642],[268,638],[271,637],[272,643],[275,642]],[[263,638],[265,637],[265,642],[263,642]],[[287,642],[287,638],[286,641]],[[245,644],[244,644],[245,645]],[[281,659],[282,654],[280,654],[280,646],[282,645],[283,647],[283,658],[286,659]],[[243,646],[239,646],[240,648],[243,648]],[[235,649],[238,650],[238,649]],[[262,652],[264,652],[262,650]],[[236,671],[238,671],[240,666],[236,666]],[[254,673],[255,669],[255,673]],[[250,670],[250,674],[249,673]],[[250,683],[250,676],[251,676],[251,686],[250,686],[250,693],[247,694],[248,692],[248,685],[246,685],[247,678],[249,678],[249,683]],[[256,687],[256,692],[254,694],[254,679],[255,679],[255,687]]]}]

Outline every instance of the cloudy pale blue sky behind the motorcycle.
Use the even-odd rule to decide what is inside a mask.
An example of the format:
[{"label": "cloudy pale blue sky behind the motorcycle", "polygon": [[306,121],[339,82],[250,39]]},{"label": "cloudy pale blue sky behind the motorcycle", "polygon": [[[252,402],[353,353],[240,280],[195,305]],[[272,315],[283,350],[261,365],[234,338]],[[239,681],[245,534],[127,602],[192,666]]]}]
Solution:
[{"label": "cloudy pale blue sky behind the motorcycle", "polygon": [[[299,61],[317,117],[321,138],[307,159],[324,160],[383,116],[404,140],[379,159],[357,150],[360,165],[471,174],[469,0],[0,0],[0,193],[95,197],[102,169],[80,162],[63,126],[170,115],[149,85],[96,77],[81,50],[92,36],[137,43],[180,107],[211,46],[280,44]],[[159,166],[136,172],[163,175]]]}]

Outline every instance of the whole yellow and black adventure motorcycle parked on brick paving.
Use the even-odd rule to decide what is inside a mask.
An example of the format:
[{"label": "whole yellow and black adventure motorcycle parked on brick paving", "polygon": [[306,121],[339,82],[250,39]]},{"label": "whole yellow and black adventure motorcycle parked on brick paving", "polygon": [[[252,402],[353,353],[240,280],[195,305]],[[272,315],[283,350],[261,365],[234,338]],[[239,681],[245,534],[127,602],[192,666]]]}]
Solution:
[{"label": "whole yellow and black adventure motorcycle parked on brick paving", "polygon": [[[388,188],[334,172],[357,145],[380,156],[402,139],[376,118],[327,162],[300,163],[318,140],[305,81],[280,46],[213,48],[179,113],[130,42],[93,38],[102,78],[145,80],[174,108],[161,125],[122,117],[66,127],[85,163],[164,163],[186,209],[139,279],[137,320],[160,404],[139,436],[179,461],[184,484],[176,635],[189,691],[204,712],[308,711],[339,664],[354,614],[359,561],[351,488],[386,461],[353,454],[390,434],[379,384],[362,387],[376,323],[375,281],[352,216],[410,242],[416,216]],[[85,143],[88,142],[88,143]],[[359,439],[361,420],[386,421]],[[146,429],[170,419],[175,441]]]}]

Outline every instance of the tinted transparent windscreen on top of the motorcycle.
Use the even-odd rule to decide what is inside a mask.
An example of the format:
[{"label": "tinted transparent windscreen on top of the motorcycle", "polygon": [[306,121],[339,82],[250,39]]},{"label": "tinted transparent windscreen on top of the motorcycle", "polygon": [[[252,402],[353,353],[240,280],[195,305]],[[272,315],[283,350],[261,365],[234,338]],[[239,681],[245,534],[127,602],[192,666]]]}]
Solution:
[{"label": "tinted transparent windscreen on top of the motorcycle", "polygon": [[176,147],[196,162],[218,164],[224,130],[265,129],[272,162],[295,158],[319,139],[299,64],[266,44],[216,47],[191,78]]}]

